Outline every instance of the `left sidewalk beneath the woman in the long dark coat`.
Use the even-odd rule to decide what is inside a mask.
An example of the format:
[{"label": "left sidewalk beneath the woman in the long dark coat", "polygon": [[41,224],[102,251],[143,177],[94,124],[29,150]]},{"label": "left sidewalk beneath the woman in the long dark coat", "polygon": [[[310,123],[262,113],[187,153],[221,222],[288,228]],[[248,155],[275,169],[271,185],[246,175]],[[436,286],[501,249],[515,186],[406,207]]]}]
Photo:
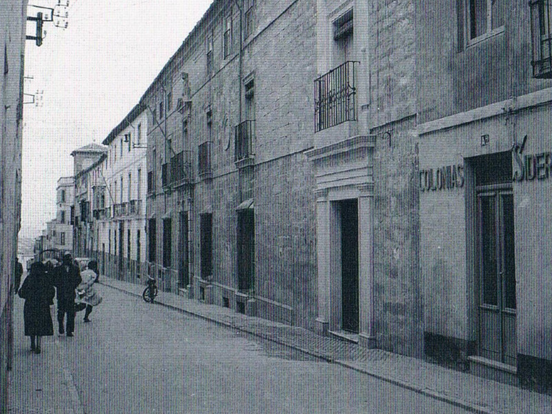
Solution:
[{"label": "left sidewalk beneath the woman in the long dark coat", "polygon": [[[52,319],[55,321],[50,307]],[[30,352],[23,335],[23,299],[14,298],[14,355],[10,371],[8,413],[83,414],[72,375],[66,368],[56,333],[42,338],[42,352]]]}]

